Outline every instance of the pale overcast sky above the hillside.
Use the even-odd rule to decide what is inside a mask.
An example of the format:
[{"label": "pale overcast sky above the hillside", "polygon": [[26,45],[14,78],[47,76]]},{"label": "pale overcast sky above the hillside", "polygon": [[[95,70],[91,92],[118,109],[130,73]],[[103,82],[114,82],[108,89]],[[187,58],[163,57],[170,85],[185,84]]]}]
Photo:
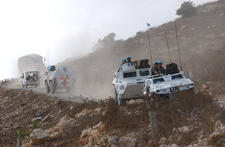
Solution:
[{"label": "pale overcast sky above the hillside", "polygon": [[[0,79],[17,75],[17,59],[49,52],[55,64],[91,51],[99,38],[117,39],[175,19],[184,0],[0,0]],[[194,0],[196,5],[212,0]]]}]

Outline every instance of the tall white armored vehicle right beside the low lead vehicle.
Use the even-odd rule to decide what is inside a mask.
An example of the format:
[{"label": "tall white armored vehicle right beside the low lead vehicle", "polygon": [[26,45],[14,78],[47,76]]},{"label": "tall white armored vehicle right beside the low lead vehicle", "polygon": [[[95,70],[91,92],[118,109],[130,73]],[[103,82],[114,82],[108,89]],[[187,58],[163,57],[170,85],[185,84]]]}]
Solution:
[{"label": "tall white armored vehicle right beside the low lead vehicle", "polygon": [[115,88],[115,99],[119,105],[124,105],[126,100],[143,96],[143,84],[150,72],[148,59],[124,62],[120,65],[112,82]]}]

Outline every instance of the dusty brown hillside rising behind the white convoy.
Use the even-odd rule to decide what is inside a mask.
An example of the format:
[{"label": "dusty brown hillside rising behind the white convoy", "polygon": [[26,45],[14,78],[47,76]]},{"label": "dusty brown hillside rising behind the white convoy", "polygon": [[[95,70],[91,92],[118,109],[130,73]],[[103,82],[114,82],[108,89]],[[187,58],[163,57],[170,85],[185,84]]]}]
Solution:
[{"label": "dusty brown hillside rising behind the white convoy", "polygon": [[[191,71],[196,82],[216,81],[223,77],[225,67],[225,1],[197,7],[197,14],[176,20],[181,59],[185,71]],[[172,61],[178,62],[174,22],[151,28],[153,61],[169,62],[164,31],[169,41]],[[95,50],[80,59],[61,64],[71,67],[77,77],[75,93],[90,97],[113,96],[111,82],[123,57],[149,58],[147,32],[138,32],[127,40],[115,40],[109,34],[99,40]],[[214,74],[214,75],[213,75]],[[216,75],[215,75],[216,74]],[[216,78],[215,78],[216,77]]]}]

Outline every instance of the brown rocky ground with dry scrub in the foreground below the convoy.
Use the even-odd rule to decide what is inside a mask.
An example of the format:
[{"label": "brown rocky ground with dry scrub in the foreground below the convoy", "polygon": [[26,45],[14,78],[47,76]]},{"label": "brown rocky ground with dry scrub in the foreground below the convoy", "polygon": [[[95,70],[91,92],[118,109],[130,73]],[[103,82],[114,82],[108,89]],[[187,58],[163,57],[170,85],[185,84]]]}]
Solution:
[{"label": "brown rocky ground with dry scrub in the foreground below the convoy", "polygon": [[224,91],[218,103],[212,85],[159,100],[158,141],[144,100],[124,107],[110,98],[77,103],[1,86],[0,146],[224,146]]}]

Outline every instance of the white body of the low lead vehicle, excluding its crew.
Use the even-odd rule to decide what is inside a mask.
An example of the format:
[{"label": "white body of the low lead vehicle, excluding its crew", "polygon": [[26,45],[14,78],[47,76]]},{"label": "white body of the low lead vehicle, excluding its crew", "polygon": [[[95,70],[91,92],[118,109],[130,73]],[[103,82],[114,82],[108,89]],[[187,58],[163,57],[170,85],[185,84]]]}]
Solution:
[{"label": "white body of the low lead vehicle, excluding its crew", "polygon": [[190,90],[194,88],[194,82],[185,78],[184,72],[158,77],[150,76],[144,83],[144,95],[166,95],[170,97],[173,93]]}]

